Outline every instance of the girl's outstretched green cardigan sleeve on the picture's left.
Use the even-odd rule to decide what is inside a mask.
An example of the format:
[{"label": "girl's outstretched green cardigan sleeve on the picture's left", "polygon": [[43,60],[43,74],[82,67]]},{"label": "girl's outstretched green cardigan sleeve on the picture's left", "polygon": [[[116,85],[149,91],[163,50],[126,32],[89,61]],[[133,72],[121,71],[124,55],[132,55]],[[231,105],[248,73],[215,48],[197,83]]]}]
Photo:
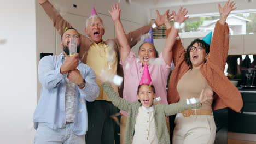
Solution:
[{"label": "girl's outstretched green cardigan sleeve on the picture's left", "polygon": [[119,95],[114,91],[114,88],[111,86],[110,82],[103,82],[101,86],[114,106],[117,106],[118,109],[128,112],[129,105],[134,102],[120,98]]}]

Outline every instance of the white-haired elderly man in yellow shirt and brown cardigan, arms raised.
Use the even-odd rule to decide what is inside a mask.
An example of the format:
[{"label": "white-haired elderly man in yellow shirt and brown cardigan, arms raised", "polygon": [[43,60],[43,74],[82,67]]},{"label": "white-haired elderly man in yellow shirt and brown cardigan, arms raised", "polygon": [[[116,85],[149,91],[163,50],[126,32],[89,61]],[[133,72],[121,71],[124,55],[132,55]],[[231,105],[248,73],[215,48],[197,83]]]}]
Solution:
[{"label": "white-haired elderly man in yellow shirt and brown cardigan, arms raised", "polygon": [[[65,27],[72,27],[71,23],[67,22],[59,14],[48,0],[39,0],[39,4],[43,7],[45,13],[50,17],[54,23],[57,32],[61,34]],[[126,35],[130,47],[135,46],[141,39],[141,35],[147,34],[149,29],[154,25],[155,27],[163,25],[165,16],[160,15],[157,11],[158,17],[154,24],[149,23],[147,26],[136,29]],[[153,28],[155,28],[153,27]],[[90,17],[86,20],[85,33],[88,35],[81,35],[81,47],[79,58],[82,62],[88,64],[96,73],[100,75],[101,71],[105,71],[109,75],[123,76],[123,69],[119,63],[120,61],[120,47],[117,39],[102,40],[105,33],[103,22],[98,17],[96,10],[93,8]],[[114,143],[114,121],[110,118],[119,110],[115,107],[107,97],[106,93],[102,91],[101,81],[96,80],[100,87],[100,94],[96,101],[88,103],[88,123],[89,130],[86,134],[86,143]],[[123,95],[123,87],[114,86],[119,95]]]}]

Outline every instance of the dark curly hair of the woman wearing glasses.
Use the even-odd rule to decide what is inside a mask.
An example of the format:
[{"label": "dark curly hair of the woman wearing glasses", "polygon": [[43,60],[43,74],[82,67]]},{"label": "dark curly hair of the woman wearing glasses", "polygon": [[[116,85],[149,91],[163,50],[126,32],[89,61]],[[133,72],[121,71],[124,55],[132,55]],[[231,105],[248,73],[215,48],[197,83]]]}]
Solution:
[{"label": "dark curly hair of the woman wearing glasses", "polygon": [[201,40],[201,39],[195,39],[193,40],[190,45],[187,47],[186,51],[185,51],[185,61],[187,62],[187,64],[190,66],[190,68],[192,68],[192,63],[190,61],[190,50],[189,48],[191,46],[193,46],[195,43],[199,43],[202,45],[203,49],[205,49],[206,53],[208,54],[210,52],[210,45],[208,45],[207,43],[205,43],[205,41]]}]

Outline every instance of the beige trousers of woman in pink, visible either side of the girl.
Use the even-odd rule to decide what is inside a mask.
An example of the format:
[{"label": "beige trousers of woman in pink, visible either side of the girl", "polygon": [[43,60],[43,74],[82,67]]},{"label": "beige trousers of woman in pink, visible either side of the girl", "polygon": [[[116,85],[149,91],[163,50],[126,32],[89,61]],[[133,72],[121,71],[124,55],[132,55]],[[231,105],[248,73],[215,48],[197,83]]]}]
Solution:
[{"label": "beige trousers of woman in pink, visible either side of the girl", "polygon": [[[120,122],[120,144],[125,144],[125,129],[126,129],[126,122],[127,117],[121,115],[121,122]],[[169,125],[169,117],[166,117],[166,125],[170,135],[170,125]]]}]

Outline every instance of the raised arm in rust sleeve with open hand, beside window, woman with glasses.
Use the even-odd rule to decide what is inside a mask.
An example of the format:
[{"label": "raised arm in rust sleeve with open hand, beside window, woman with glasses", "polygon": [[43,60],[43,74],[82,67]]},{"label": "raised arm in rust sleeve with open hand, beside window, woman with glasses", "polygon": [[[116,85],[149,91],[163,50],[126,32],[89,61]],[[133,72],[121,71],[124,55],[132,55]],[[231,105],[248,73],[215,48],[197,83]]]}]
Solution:
[{"label": "raised arm in rust sleeve with open hand, beside window, woman with glasses", "polygon": [[217,65],[222,71],[225,69],[226,58],[228,57],[229,51],[229,26],[226,23],[226,19],[229,13],[236,9],[234,5],[234,1],[230,2],[229,0],[223,7],[219,4],[220,19],[214,28],[210,53],[206,62],[214,63],[214,65]]}]

